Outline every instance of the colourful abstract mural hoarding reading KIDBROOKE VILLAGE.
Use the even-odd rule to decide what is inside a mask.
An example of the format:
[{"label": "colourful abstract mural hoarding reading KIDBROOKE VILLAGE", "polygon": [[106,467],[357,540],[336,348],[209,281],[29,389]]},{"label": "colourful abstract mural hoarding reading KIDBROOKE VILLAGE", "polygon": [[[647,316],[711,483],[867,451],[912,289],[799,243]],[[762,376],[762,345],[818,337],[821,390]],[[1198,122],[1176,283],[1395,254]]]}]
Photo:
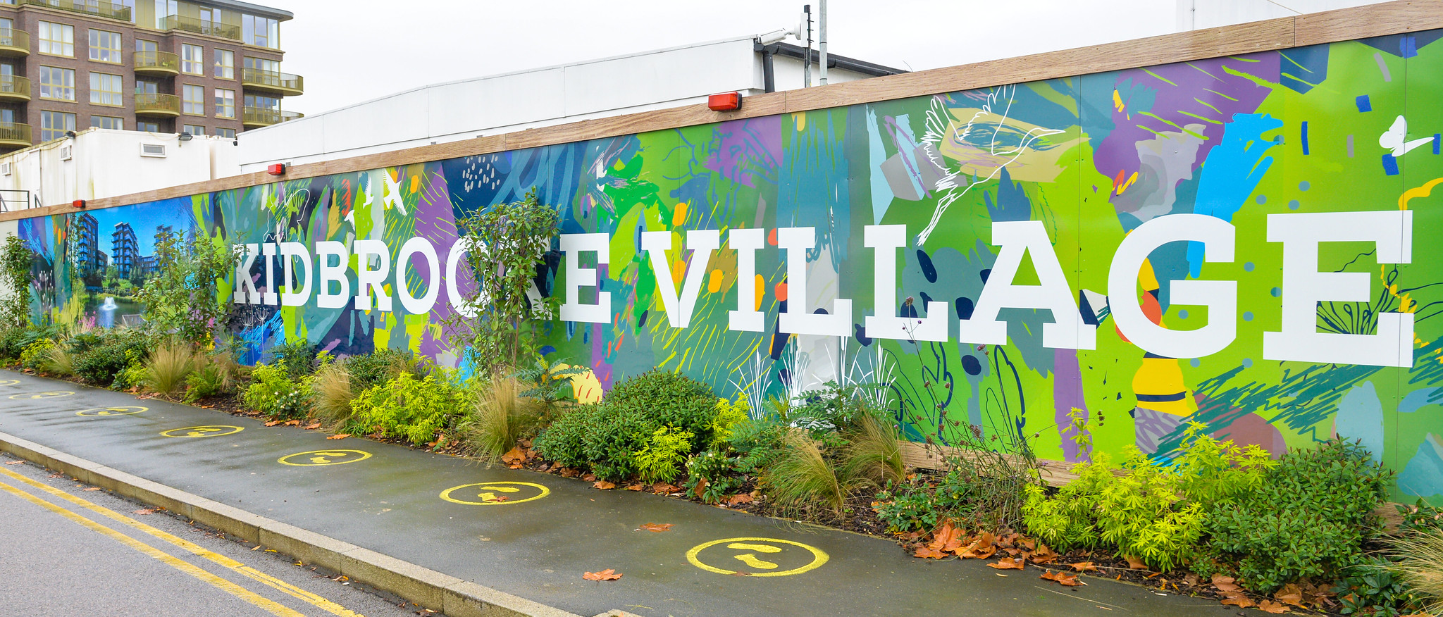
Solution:
[{"label": "colourful abstract mural hoarding reading KIDBROOKE VILLAGE", "polygon": [[[563,215],[537,285],[567,298],[545,352],[600,388],[652,368],[722,395],[874,382],[912,440],[1016,431],[1059,460],[1085,456],[1074,418],[1097,450],[1160,457],[1188,421],[1273,453],[1345,435],[1400,471],[1398,499],[1443,503],[1440,36],[280,182],[17,231],[42,255],[35,308],[58,320],[123,320],[121,280],[144,283],[153,228],[189,226],[247,245],[234,293],[251,360],[304,337],[455,365],[440,327],[466,288],[455,221],[535,189]],[[120,272],[127,259],[140,275]]]}]

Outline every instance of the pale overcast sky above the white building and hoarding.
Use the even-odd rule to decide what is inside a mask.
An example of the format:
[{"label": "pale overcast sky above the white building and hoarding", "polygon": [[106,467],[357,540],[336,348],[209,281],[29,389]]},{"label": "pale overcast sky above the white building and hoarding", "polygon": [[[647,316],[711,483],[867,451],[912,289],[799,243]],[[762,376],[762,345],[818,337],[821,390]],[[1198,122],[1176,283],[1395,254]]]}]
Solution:
[{"label": "pale overcast sky above the white building and hoarding", "polygon": [[[315,114],[444,81],[795,26],[802,0],[258,0]],[[815,10],[815,0],[812,0]],[[1173,0],[830,0],[833,53],[902,69],[1136,39],[1176,29]],[[525,95],[518,92],[517,95]]]}]

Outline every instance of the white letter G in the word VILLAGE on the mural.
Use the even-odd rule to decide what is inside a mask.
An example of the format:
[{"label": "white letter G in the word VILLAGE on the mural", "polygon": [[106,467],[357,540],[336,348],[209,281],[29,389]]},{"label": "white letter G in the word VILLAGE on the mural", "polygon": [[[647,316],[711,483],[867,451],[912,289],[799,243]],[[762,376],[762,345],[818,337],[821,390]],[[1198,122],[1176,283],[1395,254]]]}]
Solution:
[{"label": "white letter G in the word VILLAGE on the mural", "polygon": [[1208,324],[1196,330],[1169,330],[1143,314],[1137,303],[1137,272],[1154,249],[1167,242],[1202,242],[1203,261],[1232,261],[1232,223],[1208,215],[1167,215],[1137,226],[1113,254],[1107,274],[1108,307],[1117,329],[1144,352],[1166,358],[1202,358],[1238,336],[1237,281],[1172,281],[1170,301],[1208,307]]}]

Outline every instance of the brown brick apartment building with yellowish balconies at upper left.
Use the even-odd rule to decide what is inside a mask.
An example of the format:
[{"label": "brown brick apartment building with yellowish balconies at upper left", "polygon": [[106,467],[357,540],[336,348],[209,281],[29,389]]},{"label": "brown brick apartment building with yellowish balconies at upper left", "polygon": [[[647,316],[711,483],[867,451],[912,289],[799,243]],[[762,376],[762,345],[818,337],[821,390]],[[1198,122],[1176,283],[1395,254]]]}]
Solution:
[{"label": "brown brick apartment building with yellowish balconies at upper left", "polygon": [[234,0],[0,0],[0,153],[89,127],[235,137],[299,117],[290,12]]}]

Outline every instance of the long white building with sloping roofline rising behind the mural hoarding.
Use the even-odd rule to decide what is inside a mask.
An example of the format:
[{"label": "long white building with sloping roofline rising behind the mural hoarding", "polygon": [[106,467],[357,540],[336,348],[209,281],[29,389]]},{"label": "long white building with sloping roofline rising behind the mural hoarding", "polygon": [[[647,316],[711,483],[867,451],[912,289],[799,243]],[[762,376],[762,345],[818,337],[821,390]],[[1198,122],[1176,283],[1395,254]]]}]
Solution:
[{"label": "long white building with sloping roofline rising behind the mural hoarding", "polygon": [[[801,59],[773,56],[776,89],[802,86]],[[831,69],[831,84],[869,75]],[[812,69],[812,84],[818,72]],[[700,105],[763,92],[752,37],[429,85],[240,136],[241,173],[527,128]],[[743,101],[745,105],[745,101]]]}]

